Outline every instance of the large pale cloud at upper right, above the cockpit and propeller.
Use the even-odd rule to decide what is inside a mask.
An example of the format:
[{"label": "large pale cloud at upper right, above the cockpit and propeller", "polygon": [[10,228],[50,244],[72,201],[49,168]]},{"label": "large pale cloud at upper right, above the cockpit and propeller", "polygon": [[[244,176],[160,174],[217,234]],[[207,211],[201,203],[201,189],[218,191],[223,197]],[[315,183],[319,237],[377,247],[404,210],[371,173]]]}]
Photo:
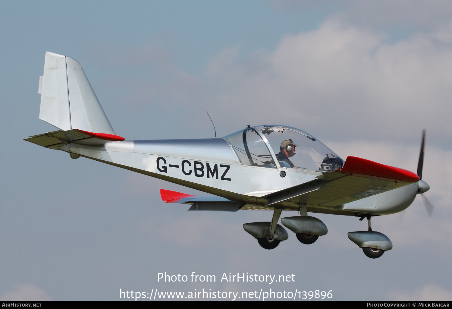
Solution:
[{"label": "large pale cloud at upper right, above the cockpit and propeller", "polygon": [[221,89],[214,100],[219,108],[243,114],[231,115],[236,122],[397,141],[417,139],[426,127],[432,139],[446,141],[452,137],[451,34],[448,27],[388,44],[382,34],[330,19],[247,61],[235,63],[227,49],[207,72],[211,89]]}]

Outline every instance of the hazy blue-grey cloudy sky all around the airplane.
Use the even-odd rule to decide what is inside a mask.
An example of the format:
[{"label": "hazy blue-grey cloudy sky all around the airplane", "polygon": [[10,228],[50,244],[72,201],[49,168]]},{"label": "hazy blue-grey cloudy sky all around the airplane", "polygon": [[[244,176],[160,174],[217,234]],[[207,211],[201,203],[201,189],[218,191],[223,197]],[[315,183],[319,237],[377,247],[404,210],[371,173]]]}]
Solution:
[{"label": "hazy blue-grey cloudy sky all around the airplane", "polygon": [[[0,299],[117,300],[151,291],[333,290],[334,300],[452,300],[452,4],[449,1],[14,1],[0,4]],[[372,219],[394,248],[369,259],[365,221],[315,215],[329,232],[264,250],[243,223],[270,212],[187,212],[179,185],[22,139],[38,119],[46,51],[75,58],[118,135],[212,138],[247,124],[301,128],[341,157],[415,171],[420,196]],[[283,212],[283,216],[293,215]],[[157,283],[157,273],[216,275]],[[296,283],[219,282],[223,272]]]}]

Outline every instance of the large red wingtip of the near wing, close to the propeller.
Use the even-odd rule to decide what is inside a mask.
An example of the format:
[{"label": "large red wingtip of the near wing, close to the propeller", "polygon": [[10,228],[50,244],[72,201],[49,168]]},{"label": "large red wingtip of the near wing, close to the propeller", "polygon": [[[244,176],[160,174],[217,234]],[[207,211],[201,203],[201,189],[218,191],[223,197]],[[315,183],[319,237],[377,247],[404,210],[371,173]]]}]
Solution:
[{"label": "large red wingtip of the near wing, close to the propeller", "polygon": [[345,160],[344,163],[344,167],[342,167],[339,172],[344,174],[360,174],[366,176],[389,178],[399,181],[419,181],[419,176],[411,171],[351,156],[347,157],[347,160]]}]

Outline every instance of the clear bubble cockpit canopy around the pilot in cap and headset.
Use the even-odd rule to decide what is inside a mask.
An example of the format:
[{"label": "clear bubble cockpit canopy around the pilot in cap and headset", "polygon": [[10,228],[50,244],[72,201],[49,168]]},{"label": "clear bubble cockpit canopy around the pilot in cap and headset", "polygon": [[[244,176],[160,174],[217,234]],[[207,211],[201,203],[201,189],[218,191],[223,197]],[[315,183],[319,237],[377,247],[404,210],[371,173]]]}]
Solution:
[{"label": "clear bubble cockpit canopy around the pilot in cap and headset", "polygon": [[[231,144],[243,165],[267,168],[277,168],[276,164],[281,167],[293,165],[299,170],[320,172],[334,171],[344,165],[344,160],[330,148],[296,128],[261,125],[245,128],[224,138]],[[290,147],[280,147],[283,141],[295,148],[293,156],[290,156],[290,151],[287,152]],[[289,153],[289,157],[286,153]]]}]

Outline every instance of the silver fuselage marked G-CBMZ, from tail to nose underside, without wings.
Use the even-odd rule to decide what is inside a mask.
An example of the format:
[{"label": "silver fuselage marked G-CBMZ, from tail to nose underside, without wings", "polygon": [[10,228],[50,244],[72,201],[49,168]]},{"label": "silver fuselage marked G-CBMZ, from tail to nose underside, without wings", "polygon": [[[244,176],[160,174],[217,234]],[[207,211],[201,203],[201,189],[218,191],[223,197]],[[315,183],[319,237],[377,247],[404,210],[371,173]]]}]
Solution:
[{"label": "silver fuselage marked G-CBMZ, from tail to nose underside, without wings", "polygon": [[[312,181],[322,172],[277,166],[242,165],[224,138],[138,140],[106,143],[101,146],[70,143],[58,149],[83,157],[174,182],[230,200],[247,203],[244,209],[282,207],[298,210],[293,202],[266,207],[265,195]],[[280,177],[280,171],[285,177]],[[307,204],[310,212],[357,215],[392,214],[407,208],[419,189],[418,183],[386,191],[334,207]]]}]

